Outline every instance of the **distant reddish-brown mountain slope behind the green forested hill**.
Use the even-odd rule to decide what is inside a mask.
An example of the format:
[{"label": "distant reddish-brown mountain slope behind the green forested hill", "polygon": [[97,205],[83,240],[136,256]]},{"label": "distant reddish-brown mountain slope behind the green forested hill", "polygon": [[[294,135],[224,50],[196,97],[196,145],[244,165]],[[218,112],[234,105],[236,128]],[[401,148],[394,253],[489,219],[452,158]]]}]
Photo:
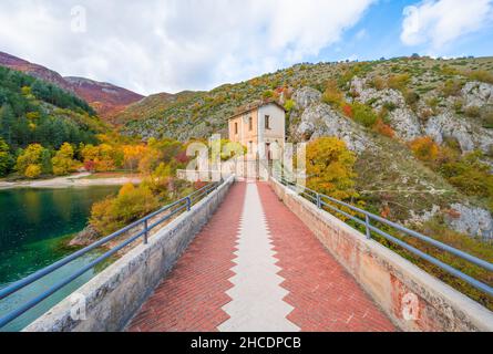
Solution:
[{"label": "distant reddish-brown mountain slope behind the green forested hill", "polygon": [[62,77],[44,66],[30,63],[17,56],[0,52],[0,65],[21,71],[34,77],[51,82],[61,88],[85,100],[97,114],[109,122],[127,105],[144,96],[132,91],[82,77]]}]

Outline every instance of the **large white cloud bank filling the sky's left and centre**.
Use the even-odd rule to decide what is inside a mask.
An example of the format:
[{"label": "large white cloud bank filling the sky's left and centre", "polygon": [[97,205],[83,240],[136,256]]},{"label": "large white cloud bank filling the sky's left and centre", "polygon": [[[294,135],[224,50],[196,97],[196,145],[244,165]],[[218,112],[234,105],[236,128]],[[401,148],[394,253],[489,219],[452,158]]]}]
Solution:
[{"label": "large white cloud bank filling the sky's left and centre", "polygon": [[317,55],[376,1],[2,0],[0,51],[142,93],[205,90]]}]

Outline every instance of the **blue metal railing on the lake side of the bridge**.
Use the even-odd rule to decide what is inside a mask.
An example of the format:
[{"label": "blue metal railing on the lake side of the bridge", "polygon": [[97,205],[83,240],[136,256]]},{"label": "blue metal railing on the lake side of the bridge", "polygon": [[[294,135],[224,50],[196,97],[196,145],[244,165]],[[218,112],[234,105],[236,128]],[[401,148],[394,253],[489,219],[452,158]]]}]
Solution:
[{"label": "blue metal railing on the lake side of the bridge", "polygon": [[[41,280],[42,278],[53,273],[55,270],[62,268],[63,266],[69,264],[70,262],[83,257],[84,254],[88,254],[89,252],[100,248],[101,246],[104,246],[105,243],[121,237],[122,235],[125,235],[130,230],[134,228],[142,228],[136,235],[133,235],[129,237],[126,240],[121,242],[120,244],[113,247],[109,251],[104,252],[103,254],[99,256],[96,259],[92,260],[90,263],[85,264],[71,275],[64,278],[63,280],[55,283],[53,287],[50,287],[48,290],[43,291],[42,293],[39,293],[33,299],[29,300],[28,302],[19,305],[17,309],[12,310],[8,314],[0,317],[0,329],[12,322],[13,320],[18,319],[20,315],[29,311],[30,309],[34,308],[37,304],[42,302],[43,300],[48,299],[52,294],[54,294],[57,291],[62,289],[63,287],[68,285],[75,279],[80,278],[82,274],[88,272],[89,270],[93,269],[95,266],[102,263],[103,261],[110,259],[112,256],[114,256],[116,252],[121,251],[125,247],[134,243],[138,239],[142,239],[144,244],[148,243],[148,237],[150,231],[152,231],[157,226],[162,225],[163,222],[170,220],[174,216],[177,216],[182,211],[189,211],[194,204],[203,199],[204,197],[208,196],[212,191],[216,190],[220,185],[223,185],[223,179],[217,183],[208,184],[201,189],[195,190],[193,194],[186,196],[185,198],[182,198],[173,204],[170,204],[163,208],[161,208],[157,211],[154,211],[146,217],[132,222],[131,225],[124,227],[123,229],[57,261],[55,263],[48,266],[47,268],[43,268],[31,275],[21,279],[3,289],[0,289],[0,300],[3,300],[21,289],[28,287],[29,284],[32,284],[33,282]],[[160,215],[166,212],[166,215],[162,218],[158,218],[156,221],[153,221],[152,219],[157,218]],[[151,223],[152,222],[152,223]],[[150,225],[151,223],[151,225]]]}]

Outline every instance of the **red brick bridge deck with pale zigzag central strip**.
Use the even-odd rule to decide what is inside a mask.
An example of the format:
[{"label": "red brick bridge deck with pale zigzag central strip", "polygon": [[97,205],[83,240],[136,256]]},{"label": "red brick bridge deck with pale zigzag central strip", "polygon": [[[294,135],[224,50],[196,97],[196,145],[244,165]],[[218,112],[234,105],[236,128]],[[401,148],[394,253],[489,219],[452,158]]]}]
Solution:
[{"label": "red brick bridge deck with pale zigzag central strip", "polygon": [[394,331],[267,184],[232,187],[129,331]]}]

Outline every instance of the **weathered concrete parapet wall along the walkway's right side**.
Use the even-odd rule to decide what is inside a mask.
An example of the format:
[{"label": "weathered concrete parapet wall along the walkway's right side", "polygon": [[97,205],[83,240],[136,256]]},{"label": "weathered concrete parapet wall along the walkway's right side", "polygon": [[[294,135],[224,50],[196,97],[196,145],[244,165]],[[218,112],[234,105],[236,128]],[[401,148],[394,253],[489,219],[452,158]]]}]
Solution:
[{"label": "weathered concrete parapet wall along the walkway's right side", "polygon": [[270,185],[401,330],[493,331],[487,309],[292,190],[275,180]]}]

